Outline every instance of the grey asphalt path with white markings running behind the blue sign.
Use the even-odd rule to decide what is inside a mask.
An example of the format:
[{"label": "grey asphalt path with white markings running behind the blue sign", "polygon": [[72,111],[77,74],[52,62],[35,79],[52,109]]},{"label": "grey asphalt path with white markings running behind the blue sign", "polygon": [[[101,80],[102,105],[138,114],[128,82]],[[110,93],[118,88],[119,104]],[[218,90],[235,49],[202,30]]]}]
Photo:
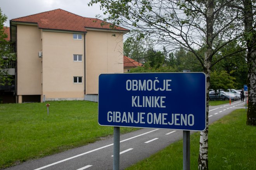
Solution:
[{"label": "grey asphalt path with white markings running behind the blue sign", "polygon": [[[245,108],[237,100],[231,105],[209,107],[209,123],[235,109]],[[193,133],[192,131],[190,133]],[[140,129],[120,136],[120,170],[143,160],[171,143],[182,139],[182,131],[171,129]],[[113,138],[31,160],[6,170],[112,170]]]}]

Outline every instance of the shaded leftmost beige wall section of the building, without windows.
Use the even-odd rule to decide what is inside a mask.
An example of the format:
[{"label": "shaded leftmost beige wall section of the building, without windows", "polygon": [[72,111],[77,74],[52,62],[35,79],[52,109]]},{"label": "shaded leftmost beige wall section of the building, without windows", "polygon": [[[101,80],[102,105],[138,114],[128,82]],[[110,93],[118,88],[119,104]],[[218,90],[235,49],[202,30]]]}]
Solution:
[{"label": "shaded leftmost beige wall section of the building, without windows", "polygon": [[41,34],[37,26],[17,25],[17,95],[41,95]]}]

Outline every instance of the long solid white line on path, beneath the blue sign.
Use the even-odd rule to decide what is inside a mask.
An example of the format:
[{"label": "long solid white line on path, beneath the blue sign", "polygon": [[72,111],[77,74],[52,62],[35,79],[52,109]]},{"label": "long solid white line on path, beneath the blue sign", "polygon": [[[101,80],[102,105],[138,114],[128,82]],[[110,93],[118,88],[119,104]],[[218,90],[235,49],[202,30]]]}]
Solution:
[{"label": "long solid white line on path, beneath the blue sign", "polygon": [[[131,138],[128,138],[128,139],[125,139],[125,140],[120,141],[120,143],[121,143],[121,142],[124,142],[124,141],[128,141],[128,140],[133,139],[133,138],[137,138],[137,137],[139,137],[139,136],[142,136],[142,135],[145,135],[145,134],[154,132],[154,131],[157,131],[157,130],[159,130],[159,129],[154,129],[154,130],[152,130],[152,131],[149,131],[149,132],[146,132],[146,133],[143,133],[143,134],[139,134],[139,135],[137,135],[137,136],[133,136],[133,137],[131,137]],[[87,152],[85,152],[85,153],[81,153],[81,154],[79,154],[79,155],[75,155],[75,156],[66,158],[66,159],[64,159],[64,160],[60,160],[60,161],[58,161],[58,162],[54,162],[54,163],[45,165],[45,166],[43,166],[43,167],[34,169],[34,170],[41,170],[41,169],[44,169],[44,168],[47,168],[47,167],[51,167],[51,166],[56,165],[56,164],[58,164],[58,163],[65,162],[65,161],[67,161],[67,160],[71,160],[71,159],[73,159],[73,158],[77,158],[77,157],[79,157],[79,156],[83,156],[83,155],[86,155],[86,154],[88,154],[88,153],[92,153],[92,152],[94,152],[94,151],[97,151],[97,150],[100,150],[100,149],[103,149],[103,148],[107,148],[107,147],[112,146],[112,145],[114,145],[114,144],[112,143],[112,144],[109,144],[109,145],[106,145],[106,146],[102,146],[102,147],[100,147],[100,148],[96,148],[96,149],[94,149],[94,150],[90,150],[90,151],[87,151]]]}]

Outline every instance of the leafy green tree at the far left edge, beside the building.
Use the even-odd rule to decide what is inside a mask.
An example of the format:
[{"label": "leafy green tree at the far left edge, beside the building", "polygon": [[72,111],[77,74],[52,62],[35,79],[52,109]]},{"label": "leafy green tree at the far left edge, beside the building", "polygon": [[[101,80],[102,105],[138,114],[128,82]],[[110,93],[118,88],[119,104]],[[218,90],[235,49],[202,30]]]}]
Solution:
[{"label": "leafy green tree at the far left edge, beside the building", "polygon": [[7,17],[5,14],[2,14],[0,8],[0,85],[10,85],[12,76],[9,75],[8,68],[10,67],[10,63],[15,61],[12,46],[10,42],[6,40],[7,34],[5,29],[9,29],[3,25],[6,20]]}]

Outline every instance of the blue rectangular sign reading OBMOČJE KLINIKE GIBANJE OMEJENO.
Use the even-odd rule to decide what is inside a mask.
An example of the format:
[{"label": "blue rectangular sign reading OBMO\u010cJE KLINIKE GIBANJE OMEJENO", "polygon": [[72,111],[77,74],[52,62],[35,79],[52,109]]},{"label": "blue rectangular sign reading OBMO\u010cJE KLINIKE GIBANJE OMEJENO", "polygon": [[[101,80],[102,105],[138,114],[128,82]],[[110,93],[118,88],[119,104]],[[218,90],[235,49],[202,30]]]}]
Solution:
[{"label": "blue rectangular sign reading OBMO\u010cJE KLINIKE GIBANJE OMEJENO", "polygon": [[204,73],[117,73],[99,76],[103,126],[206,128]]}]

